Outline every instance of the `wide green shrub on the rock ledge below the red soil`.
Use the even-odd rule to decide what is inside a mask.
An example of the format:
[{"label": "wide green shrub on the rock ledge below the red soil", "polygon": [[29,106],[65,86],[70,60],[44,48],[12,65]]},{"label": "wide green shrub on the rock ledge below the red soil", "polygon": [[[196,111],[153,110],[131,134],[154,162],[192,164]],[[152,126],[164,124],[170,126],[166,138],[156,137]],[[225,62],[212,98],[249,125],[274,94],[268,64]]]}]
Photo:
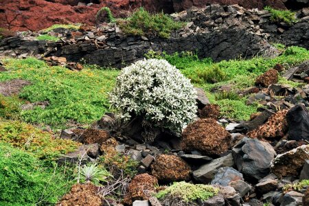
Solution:
[{"label": "wide green shrub on the rock ledge below the red soil", "polygon": [[174,21],[163,12],[150,14],[144,8],[134,12],[127,20],[119,19],[117,23],[126,34],[162,38],[169,38],[172,30],[178,30],[183,26],[183,23]]}]

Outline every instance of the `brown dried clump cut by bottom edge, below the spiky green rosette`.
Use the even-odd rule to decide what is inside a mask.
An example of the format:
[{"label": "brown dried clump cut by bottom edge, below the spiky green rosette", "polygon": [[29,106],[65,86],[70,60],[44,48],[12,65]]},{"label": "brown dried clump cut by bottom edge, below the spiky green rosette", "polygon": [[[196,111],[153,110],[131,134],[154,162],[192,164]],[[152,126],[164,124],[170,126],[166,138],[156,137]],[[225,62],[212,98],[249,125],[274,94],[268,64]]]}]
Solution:
[{"label": "brown dried clump cut by bottom edge, below the spiky green rosette", "polygon": [[103,201],[97,191],[97,187],[92,184],[73,185],[70,192],[65,194],[56,206],[101,206]]}]

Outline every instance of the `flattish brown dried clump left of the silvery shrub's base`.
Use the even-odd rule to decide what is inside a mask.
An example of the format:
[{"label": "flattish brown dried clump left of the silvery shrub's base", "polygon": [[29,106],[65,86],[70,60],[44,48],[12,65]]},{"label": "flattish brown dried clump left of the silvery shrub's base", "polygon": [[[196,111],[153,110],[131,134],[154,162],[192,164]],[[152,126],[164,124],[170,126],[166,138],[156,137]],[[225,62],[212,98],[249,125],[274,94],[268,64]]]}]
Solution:
[{"label": "flattish brown dried clump left of the silvery shrub's base", "polygon": [[87,128],[86,130],[74,129],[72,131],[77,135],[78,139],[80,139],[83,144],[98,143],[101,145],[104,141],[111,138],[106,130]]}]

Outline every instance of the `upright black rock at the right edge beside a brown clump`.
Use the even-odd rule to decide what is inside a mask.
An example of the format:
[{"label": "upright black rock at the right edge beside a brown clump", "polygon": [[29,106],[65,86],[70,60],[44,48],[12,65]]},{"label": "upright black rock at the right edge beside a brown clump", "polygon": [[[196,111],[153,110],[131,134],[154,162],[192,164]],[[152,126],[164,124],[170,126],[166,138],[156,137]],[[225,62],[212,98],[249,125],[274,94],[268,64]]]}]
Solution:
[{"label": "upright black rock at the right edge beside a brown clump", "polygon": [[286,114],[288,122],[288,139],[300,141],[309,140],[309,113],[308,109],[299,104]]}]

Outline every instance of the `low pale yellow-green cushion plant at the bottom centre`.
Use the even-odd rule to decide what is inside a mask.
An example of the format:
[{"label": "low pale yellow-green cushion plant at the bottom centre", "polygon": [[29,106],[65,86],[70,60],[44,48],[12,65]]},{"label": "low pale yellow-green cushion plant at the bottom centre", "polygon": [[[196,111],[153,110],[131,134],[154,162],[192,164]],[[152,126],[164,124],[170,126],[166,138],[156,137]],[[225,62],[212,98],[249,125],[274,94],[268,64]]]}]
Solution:
[{"label": "low pale yellow-green cushion plant at the bottom centre", "polygon": [[156,196],[161,199],[165,196],[168,198],[180,198],[185,202],[207,201],[208,198],[216,196],[219,189],[211,185],[191,184],[186,182],[173,183],[170,187],[160,191]]}]

